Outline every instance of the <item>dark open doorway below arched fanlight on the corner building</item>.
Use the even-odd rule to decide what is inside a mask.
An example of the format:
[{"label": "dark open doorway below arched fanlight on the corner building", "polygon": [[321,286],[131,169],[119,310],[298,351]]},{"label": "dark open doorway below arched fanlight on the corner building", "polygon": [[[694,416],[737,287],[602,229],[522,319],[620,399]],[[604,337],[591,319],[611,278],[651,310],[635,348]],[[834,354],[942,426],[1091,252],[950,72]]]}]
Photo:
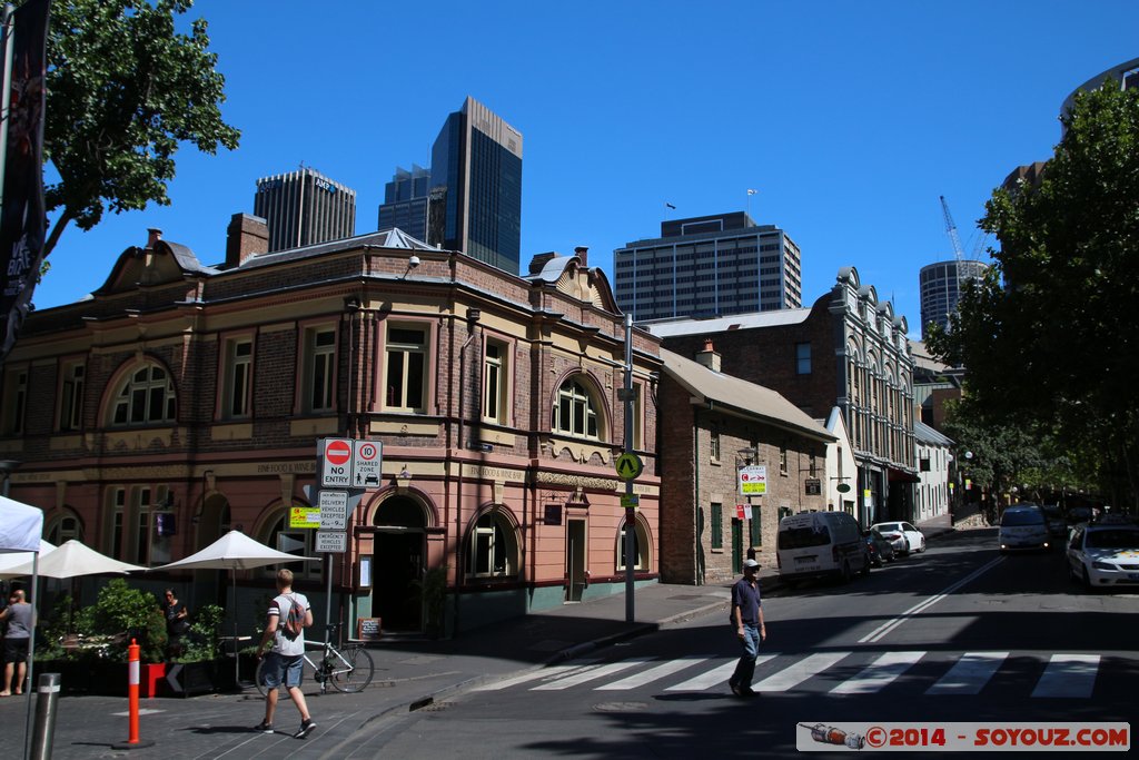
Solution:
[{"label": "dark open doorway below arched fanlight on the corner building", "polygon": [[372,559],[372,614],[385,631],[421,631],[418,582],[424,572],[424,534],[376,533]]}]

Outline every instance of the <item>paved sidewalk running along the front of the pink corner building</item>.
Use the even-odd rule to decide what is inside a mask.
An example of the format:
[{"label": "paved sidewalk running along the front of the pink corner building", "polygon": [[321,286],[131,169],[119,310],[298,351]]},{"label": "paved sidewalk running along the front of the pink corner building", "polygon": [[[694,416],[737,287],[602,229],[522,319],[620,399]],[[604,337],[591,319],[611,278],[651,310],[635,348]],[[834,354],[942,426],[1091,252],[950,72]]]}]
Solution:
[{"label": "paved sidewalk running along the front of the pink corner building", "polygon": [[[919,524],[931,542],[950,534],[948,515]],[[779,587],[777,571],[763,567],[764,590]],[[582,604],[487,626],[445,641],[392,640],[369,648],[376,663],[371,685],[360,694],[329,693],[304,686],[309,710],[318,724],[303,741],[292,733],[300,724],[296,709],[281,695],[274,724],[281,734],[255,734],[251,727],[263,717],[263,700],[252,687],[239,694],[192,698],[141,701],[140,738],[154,745],[115,751],[128,738],[128,701],[99,696],[64,696],[57,705],[52,757],[80,760],[92,757],[253,758],[287,752],[298,758],[344,758],[369,722],[393,712],[426,708],[449,694],[476,684],[577,656],[593,648],[652,632],[708,612],[727,612],[727,586],[653,583],[634,594],[634,622],[625,622],[625,596],[615,594]],[[33,712],[35,706],[33,704]],[[0,722],[9,727],[9,746],[19,757],[26,702],[0,700]],[[338,749],[339,747],[339,749]]]}]

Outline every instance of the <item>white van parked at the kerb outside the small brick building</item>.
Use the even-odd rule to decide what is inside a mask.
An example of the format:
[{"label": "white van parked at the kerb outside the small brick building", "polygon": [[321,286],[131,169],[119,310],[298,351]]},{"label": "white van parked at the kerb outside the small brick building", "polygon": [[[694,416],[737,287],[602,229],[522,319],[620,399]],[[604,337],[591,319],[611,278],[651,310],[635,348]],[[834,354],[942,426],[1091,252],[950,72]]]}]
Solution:
[{"label": "white van parked at the kerb outside the small brick building", "polygon": [[870,572],[870,557],[858,521],[845,512],[801,512],[779,521],[776,542],[779,578],[849,581]]}]

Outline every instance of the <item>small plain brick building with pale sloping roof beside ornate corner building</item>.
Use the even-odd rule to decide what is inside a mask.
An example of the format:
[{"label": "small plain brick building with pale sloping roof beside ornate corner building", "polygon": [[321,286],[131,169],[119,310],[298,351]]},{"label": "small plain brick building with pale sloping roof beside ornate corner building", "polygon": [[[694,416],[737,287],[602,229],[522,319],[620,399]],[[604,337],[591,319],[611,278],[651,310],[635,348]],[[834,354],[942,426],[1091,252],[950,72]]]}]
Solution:
[{"label": "small plain brick building with pale sloping roof beside ornate corner building", "polygon": [[[661,579],[723,583],[747,557],[775,566],[779,520],[827,508],[836,438],[775,391],[722,374],[711,341],[695,361],[661,357]],[[762,493],[744,496],[740,479],[755,468]]]}]

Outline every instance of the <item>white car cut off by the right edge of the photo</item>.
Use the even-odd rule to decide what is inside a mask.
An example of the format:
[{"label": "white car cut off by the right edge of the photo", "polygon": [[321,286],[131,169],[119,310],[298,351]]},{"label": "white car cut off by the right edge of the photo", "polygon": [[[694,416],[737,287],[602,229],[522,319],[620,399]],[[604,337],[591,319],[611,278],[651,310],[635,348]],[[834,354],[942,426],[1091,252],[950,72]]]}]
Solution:
[{"label": "white car cut off by the right edge of the photo", "polygon": [[1112,517],[1081,523],[1067,558],[1068,575],[1085,589],[1139,586],[1139,525]]}]

